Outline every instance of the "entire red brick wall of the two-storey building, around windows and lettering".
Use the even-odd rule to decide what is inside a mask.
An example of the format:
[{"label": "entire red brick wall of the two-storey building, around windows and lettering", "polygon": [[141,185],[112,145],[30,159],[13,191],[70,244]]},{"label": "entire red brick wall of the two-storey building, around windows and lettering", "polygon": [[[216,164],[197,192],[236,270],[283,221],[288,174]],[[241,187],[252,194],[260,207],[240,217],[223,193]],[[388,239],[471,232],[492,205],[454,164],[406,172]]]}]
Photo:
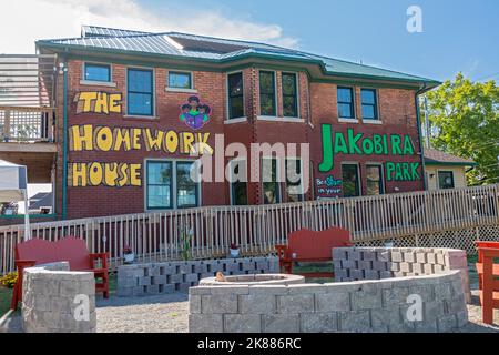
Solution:
[{"label": "entire red brick wall of the two-storey building, around windows and lettering", "polygon": [[[126,85],[125,73],[126,67],[121,64],[112,64],[112,81],[116,83],[116,88],[89,87],[81,85],[82,79],[82,61],[72,60],[69,62],[69,91],[68,99],[69,119],[68,125],[106,125],[110,128],[151,128],[161,130],[174,130],[177,132],[192,131],[183,122],[179,120],[180,104],[184,103],[191,93],[169,92],[165,90],[167,70],[164,68],[155,68],[155,119],[144,118],[125,118],[123,114],[95,114],[81,113],[75,114],[75,104],[72,100],[79,91],[106,91],[121,92],[123,95],[123,113],[126,112]],[[242,142],[247,148],[251,143],[268,142],[268,143],[306,143],[310,142],[312,156],[310,162],[314,166],[314,178],[320,178],[327,174],[317,172],[317,164],[322,161],[320,145],[320,124],[327,123],[333,125],[334,131],[346,131],[353,128],[356,132],[366,134],[373,133],[398,133],[410,134],[414,146],[419,151],[418,129],[416,124],[415,110],[415,92],[401,89],[379,89],[379,114],[383,124],[363,123],[360,118],[360,88],[356,88],[356,113],[359,118],[358,123],[338,122],[336,106],[336,85],[329,83],[309,83],[305,72],[298,73],[299,89],[299,118],[302,121],[283,122],[283,121],[263,121],[258,120],[259,99],[258,99],[258,68],[249,67],[243,70],[244,75],[244,98],[245,98],[245,115],[244,122],[224,124],[227,115],[226,101],[226,74],[222,72],[193,72],[194,88],[201,100],[212,108],[211,122],[207,123],[201,132],[210,132],[210,145],[214,146],[216,133],[223,133],[225,145],[231,142]],[[282,90],[281,90],[281,71],[276,72],[277,83],[277,115],[282,116]],[[60,77],[62,79],[62,75]],[[59,81],[62,89],[62,80]],[[62,102],[62,90],[59,90],[59,102]],[[62,118],[62,105],[59,105],[58,116]],[[58,134],[62,136],[62,120],[59,120]],[[61,139],[58,139],[61,142]],[[61,212],[61,182],[62,182],[62,145],[59,145],[60,154],[58,155],[58,186],[57,186],[57,211]],[[146,152],[140,151],[69,151],[68,161],[71,162],[129,162],[144,163],[146,158],[162,159],[185,159],[185,154],[165,154],[164,152]],[[365,193],[366,162],[386,162],[389,161],[420,161],[419,155],[413,156],[338,156],[339,160],[357,161],[360,163],[360,176],[363,181],[363,193]],[[225,159],[227,162],[230,159]],[[332,171],[333,175],[340,179],[339,160],[335,162]],[[144,184],[145,176],[144,166],[142,168],[142,186],[86,186],[86,187],[68,187],[68,217],[85,217],[96,215],[113,215],[124,213],[144,212]],[[422,174],[421,174],[422,176]],[[422,181],[416,182],[387,182],[387,192],[394,192],[395,187],[399,191],[422,190]],[[283,186],[284,192],[284,186]],[[312,199],[312,189],[307,195]],[[248,184],[248,202],[251,204],[262,203],[261,183]],[[203,183],[202,184],[202,204],[217,205],[230,203],[230,186],[226,183]]]}]

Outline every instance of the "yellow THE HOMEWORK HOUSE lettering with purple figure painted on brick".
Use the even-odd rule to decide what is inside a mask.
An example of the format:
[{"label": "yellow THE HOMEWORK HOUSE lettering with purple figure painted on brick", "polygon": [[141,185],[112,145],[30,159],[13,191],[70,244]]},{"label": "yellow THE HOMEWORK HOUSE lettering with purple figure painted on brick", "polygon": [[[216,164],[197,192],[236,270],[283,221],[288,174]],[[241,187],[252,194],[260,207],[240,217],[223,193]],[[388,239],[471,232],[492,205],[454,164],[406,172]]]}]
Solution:
[{"label": "yellow THE HOMEWORK HOUSE lettering with purple figure painted on brick", "polygon": [[[77,114],[121,113],[122,94],[102,91],[81,91],[74,95]],[[190,129],[198,130],[210,122],[211,106],[198,97],[190,97],[181,105],[180,120]],[[69,128],[69,151],[144,151],[165,154],[213,154],[208,144],[210,133],[179,132],[150,128],[121,128],[94,124]],[[68,163],[70,186],[141,186],[142,164],[130,162],[70,162]]]}]

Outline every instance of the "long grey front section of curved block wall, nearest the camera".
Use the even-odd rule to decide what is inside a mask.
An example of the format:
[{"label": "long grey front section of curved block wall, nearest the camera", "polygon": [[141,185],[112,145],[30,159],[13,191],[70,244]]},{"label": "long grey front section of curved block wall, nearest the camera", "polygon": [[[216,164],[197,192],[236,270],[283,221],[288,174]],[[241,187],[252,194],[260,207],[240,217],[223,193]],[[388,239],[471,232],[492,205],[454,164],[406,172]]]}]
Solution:
[{"label": "long grey front section of curved block wall, nearest the camera", "polygon": [[[421,320],[407,316],[420,296]],[[409,312],[410,313],[410,312]],[[458,271],[327,284],[197,286],[192,333],[448,332],[468,322]]]}]

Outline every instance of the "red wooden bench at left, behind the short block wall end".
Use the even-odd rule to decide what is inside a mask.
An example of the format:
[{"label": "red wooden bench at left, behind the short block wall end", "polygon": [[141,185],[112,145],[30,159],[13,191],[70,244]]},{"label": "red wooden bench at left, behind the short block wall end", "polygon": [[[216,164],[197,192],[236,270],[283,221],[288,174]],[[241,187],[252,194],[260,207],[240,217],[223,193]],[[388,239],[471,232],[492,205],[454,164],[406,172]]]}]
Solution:
[{"label": "red wooden bench at left, behind the short block wall end", "polygon": [[[101,260],[101,265],[96,261]],[[68,236],[57,242],[32,239],[16,245],[18,281],[13,288],[11,308],[22,300],[22,273],[26,267],[54,262],[69,262],[71,271],[91,271],[95,275],[95,292],[109,297],[108,253],[89,253],[84,240]]]}]

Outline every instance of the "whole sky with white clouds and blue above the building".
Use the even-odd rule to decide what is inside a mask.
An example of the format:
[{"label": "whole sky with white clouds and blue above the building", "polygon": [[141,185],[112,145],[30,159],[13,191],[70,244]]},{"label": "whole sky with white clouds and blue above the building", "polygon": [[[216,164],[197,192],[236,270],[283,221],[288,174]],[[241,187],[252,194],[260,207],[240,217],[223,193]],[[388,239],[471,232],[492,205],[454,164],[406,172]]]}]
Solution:
[{"label": "whole sky with white clouds and blue above the building", "polygon": [[[32,53],[38,39],[79,37],[81,24],[94,24],[256,40],[437,80],[459,71],[499,79],[498,0],[2,2],[6,53]],[[406,30],[409,6],[422,10],[422,33]],[[40,26],[43,18],[53,20]]]}]

